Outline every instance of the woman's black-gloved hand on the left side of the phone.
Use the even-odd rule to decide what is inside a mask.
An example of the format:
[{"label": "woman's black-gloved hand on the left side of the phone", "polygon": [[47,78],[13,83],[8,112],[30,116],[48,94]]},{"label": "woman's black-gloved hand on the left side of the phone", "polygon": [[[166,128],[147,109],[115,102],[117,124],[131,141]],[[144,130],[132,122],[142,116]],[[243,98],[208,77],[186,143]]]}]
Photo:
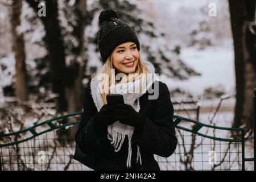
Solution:
[{"label": "woman's black-gloved hand on the left side of the phone", "polygon": [[106,127],[108,125],[112,125],[117,121],[115,118],[115,110],[116,105],[108,105],[105,104],[101,107],[101,110],[94,116],[94,122],[98,126]]}]

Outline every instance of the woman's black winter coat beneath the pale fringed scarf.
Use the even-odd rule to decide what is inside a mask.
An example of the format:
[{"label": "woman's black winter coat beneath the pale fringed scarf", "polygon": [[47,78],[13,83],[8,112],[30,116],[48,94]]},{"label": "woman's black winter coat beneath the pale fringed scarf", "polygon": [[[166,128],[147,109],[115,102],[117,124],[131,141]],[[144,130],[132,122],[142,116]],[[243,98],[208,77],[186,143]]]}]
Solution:
[{"label": "woman's black winter coat beneath the pale fringed scarf", "polygon": [[[154,88],[154,84],[153,84]],[[127,169],[128,138],[119,152],[114,151],[106,136],[107,129],[98,129],[94,125],[94,115],[97,113],[90,86],[85,89],[84,113],[79,130],[76,134],[76,144],[84,154],[94,154],[96,170],[160,170],[154,159],[154,154],[168,157],[175,151],[177,138],[173,121],[174,107],[170,92],[163,82],[159,81],[159,97],[148,100],[148,92],[139,98],[141,110],[146,116],[146,123],[134,130],[131,138],[132,156],[131,168]],[[136,163],[137,145],[140,147],[142,166]]]}]

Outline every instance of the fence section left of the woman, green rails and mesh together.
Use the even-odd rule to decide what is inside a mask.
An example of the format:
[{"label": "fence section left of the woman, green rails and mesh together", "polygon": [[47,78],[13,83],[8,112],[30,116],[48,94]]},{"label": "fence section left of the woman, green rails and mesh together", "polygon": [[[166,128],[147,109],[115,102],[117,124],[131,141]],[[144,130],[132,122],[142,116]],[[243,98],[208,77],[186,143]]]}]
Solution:
[{"label": "fence section left of the woman, green rails and mesh together", "polygon": [[76,160],[72,136],[81,113],[49,119],[15,133],[0,135],[0,170],[87,170]]}]

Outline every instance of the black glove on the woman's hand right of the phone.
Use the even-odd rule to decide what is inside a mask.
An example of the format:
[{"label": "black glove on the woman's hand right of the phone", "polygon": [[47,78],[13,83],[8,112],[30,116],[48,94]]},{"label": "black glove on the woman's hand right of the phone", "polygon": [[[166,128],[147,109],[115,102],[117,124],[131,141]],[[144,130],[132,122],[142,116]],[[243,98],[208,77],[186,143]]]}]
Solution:
[{"label": "black glove on the woman's hand right of the phone", "polygon": [[118,104],[115,109],[115,117],[119,122],[134,127],[142,127],[146,121],[146,117],[139,114],[131,105]]}]

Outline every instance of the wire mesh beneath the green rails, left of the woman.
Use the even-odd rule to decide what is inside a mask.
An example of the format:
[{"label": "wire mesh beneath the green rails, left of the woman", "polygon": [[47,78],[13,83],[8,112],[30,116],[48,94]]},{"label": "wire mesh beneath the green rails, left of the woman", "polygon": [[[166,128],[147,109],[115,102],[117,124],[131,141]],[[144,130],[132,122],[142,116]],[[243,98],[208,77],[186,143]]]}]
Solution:
[{"label": "wire mesh beneath the green rails, left of the woman", "polygon": [[[65,130],[65,134],[63,131]],[[88,170],[73,160],[75,142],[67,131],[52,130],[26,142],[0,148],[2,170]]]}]

